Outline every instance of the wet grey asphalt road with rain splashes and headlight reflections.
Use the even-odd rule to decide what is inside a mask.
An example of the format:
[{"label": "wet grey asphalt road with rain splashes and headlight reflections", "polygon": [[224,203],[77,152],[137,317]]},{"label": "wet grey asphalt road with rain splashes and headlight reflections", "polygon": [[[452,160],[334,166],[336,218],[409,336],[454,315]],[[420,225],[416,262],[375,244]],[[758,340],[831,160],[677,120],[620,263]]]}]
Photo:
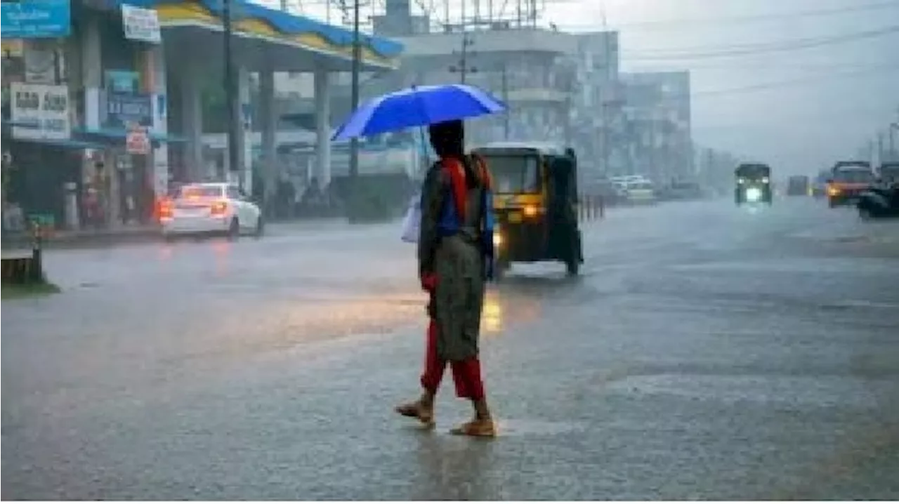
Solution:
[{"label": "wet grey asphalt road with rain splashes and headlight reflections", "polygon": [[391,412],[423,347],[396,234],[51,252],[63,294],[0,304],[0,498],[899,498],[899,225],[610,212],[581,279],[489,293],[493,441],[445,434],[451,386],[435,432]]}]

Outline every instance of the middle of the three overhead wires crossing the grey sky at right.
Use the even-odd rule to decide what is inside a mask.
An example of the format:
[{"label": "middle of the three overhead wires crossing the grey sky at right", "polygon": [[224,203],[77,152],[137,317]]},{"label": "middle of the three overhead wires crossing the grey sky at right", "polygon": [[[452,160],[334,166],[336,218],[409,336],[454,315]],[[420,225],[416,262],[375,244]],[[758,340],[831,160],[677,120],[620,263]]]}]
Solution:
[{"label": "middle of the three overhead wires crossing the grey sky at right", "polygon": [[[889,35],[892,33],[899,32],[899,26],[887,26],[886,28],[880,28],[877,30],[868,30],[868,31],[856,31],[853,33],[846,33],[843,35],[837,35],[833,37],[820,37],[816,39],[798,39],[798,40],[790,40],[788,42],[777,42],[772,44],[755,44],[755,45],[743,45],[743,46],[732,46],[726,48],[725,50],[719,50],[717,52],[708,51],[708,52],[690,52],[691,50],[702,50],[700,48],[694,49],[677,49],[684,51],[682,54],[676,54],[674,51],[668,51],[669,54],[663,54],[663,51],[659,51],[660,54],[651,56],[649,52],[645,53],[643,56],[631,57],[628,56],[628,60],[680,60],[680,59],[704,59],[704,58],[714,58],[714,57],[735,57],[735,56],[748,56],[748,55],[756,55],[756,54],[764,54],[770,52],[783,52],[783,51],[792,51],[792,50],[800,50],[800,49],[814,49],[823,46],[831,46],[838,45],[846,42],[853,42],[856,40],[866,40],[873,39],[877,37],[882,37],[884,35]],[[629,53],[631,55],[634,54],[642,54],[642,53]]]}]

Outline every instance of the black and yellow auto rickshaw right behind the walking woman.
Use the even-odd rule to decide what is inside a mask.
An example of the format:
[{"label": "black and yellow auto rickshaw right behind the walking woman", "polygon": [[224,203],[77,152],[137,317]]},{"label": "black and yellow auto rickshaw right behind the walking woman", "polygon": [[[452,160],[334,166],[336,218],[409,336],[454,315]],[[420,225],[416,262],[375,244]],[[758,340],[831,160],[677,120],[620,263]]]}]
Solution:
[{"label": "black and yellow auto rickshaw right behind the walking woman", "polygon": [[561,261],[569,275],[583,263],[574,151],[540,143],[495,143],[482,156],[494,182],[494,277],[512,262]]}]

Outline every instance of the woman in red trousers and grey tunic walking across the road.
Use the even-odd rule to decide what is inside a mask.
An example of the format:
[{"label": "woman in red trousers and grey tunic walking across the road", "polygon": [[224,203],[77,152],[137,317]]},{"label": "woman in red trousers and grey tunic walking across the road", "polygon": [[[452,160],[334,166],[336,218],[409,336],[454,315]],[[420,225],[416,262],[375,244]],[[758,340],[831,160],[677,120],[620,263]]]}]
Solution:
[{"label": "woman in red trousers and grey tunic walking across the road", "polygon": [[[425,177],[422,223],[418,240],[419,278],[430,294],[430,323],[425,349],[423,393],[396,412],[434,425],[434,396],[443,372],[452,368],[456,394],[474,406],[474,419],[453,434],[493,437],[494,420],[487,406],[478,338],[488,272],[484,230],[492,212],[490,174],[483,159],[466,155],[462,121],[429,127],[431,145],[440,156]],[[487,237],[493,243],[493,236]]]}]

